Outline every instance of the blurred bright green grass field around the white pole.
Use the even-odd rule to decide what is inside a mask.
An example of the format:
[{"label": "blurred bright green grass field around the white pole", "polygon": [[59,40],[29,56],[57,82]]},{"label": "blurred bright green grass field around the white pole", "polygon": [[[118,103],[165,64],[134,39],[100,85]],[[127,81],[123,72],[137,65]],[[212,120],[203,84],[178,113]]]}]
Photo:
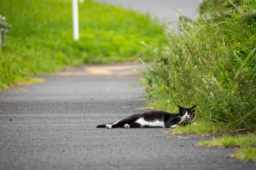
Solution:
[{"label": "blurred bright green grass field around the white pole", "polygon": [[78,6],[80,40],[74,41],[70,0],[0,1],[0,14],[12,25],[0,52],[0,88],[65,65],[152,60],[140,42],[166,43],[163,26],[147,14],[90,0]]}]

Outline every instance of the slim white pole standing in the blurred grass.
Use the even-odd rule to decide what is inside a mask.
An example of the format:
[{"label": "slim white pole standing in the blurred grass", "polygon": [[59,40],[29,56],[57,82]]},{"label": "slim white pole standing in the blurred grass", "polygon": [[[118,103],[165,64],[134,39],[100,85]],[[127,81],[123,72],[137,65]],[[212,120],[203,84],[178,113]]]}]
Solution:
[{"label": "slim white pole standing in the blurred grass", "polygon": [[78,0],[72,0],[73,13],[73,38],[79,40],[79,26],[78,26]]}]

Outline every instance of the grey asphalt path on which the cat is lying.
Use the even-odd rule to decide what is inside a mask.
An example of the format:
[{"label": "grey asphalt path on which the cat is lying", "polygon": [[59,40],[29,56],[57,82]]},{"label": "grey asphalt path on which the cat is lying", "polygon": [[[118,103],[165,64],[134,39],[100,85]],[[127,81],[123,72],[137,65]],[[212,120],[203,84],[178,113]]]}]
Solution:
[{"label": "grey asphalt path on which the cat is lying", "polygon": [[198,147],[209,137],[164,128],[96,128],[142,113],[138,64],[70,68],[45,83],[0,93],[0,169],[256,169],[233,148]]}]

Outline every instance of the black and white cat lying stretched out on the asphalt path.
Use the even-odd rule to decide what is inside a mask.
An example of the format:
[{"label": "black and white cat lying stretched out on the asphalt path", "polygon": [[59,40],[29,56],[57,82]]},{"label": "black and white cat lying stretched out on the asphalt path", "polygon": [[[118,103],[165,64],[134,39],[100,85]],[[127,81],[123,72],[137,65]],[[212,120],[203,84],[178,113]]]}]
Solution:
[{"label": "black and white cat lying stretched out on the asphalt path", "polygon": [[97,125],[97,128],[177,128],[179,125],[187,125],[195,115],[196,106],[192,108],[178,106],[178,108],[178,113],[151,111],[131,115],[116,123]]}]

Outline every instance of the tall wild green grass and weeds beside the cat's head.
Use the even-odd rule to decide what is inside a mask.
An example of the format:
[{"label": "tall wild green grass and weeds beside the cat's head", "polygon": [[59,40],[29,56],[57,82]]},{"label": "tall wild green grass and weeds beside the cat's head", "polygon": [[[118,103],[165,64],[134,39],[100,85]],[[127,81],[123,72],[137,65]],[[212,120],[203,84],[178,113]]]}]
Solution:
[{"label": "tall wild green grass and weeds beside the cat's head", "polygon": [[[235,8],[231,7],[225,10]],[[174,132],[255,130],[255,8],[256,1],[242,1],[241,11],[229,16],[211,8],[211,19],[202,15],[193,23],[181,21],[178,35],[170,28],[164,50],[149,47],[156,62],[142,75],[154,98],[151,106],[170,113],[177,113],[177,105],[198,106],[198,126]]]}]

